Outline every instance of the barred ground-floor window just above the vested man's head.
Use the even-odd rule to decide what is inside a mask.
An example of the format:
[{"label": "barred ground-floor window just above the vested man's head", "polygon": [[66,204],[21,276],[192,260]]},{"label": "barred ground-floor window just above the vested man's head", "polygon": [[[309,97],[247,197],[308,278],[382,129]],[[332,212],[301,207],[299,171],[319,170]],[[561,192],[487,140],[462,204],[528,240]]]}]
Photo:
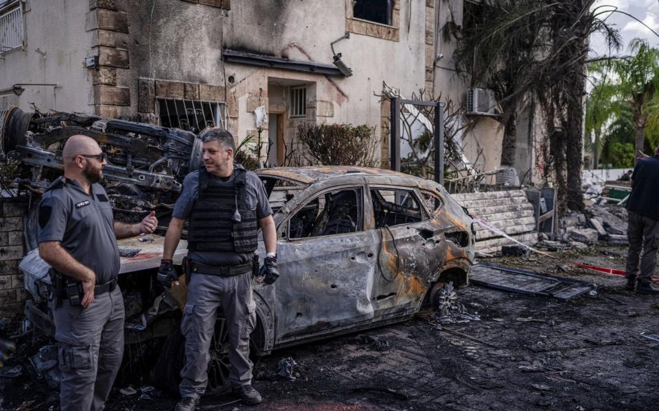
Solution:
[{"label": "barred ground-floor window just above the vested man's head", "polygon": [[216,101],[158,99],[160,125],[198,133],[207,127],[224,127],[224,104]]}]

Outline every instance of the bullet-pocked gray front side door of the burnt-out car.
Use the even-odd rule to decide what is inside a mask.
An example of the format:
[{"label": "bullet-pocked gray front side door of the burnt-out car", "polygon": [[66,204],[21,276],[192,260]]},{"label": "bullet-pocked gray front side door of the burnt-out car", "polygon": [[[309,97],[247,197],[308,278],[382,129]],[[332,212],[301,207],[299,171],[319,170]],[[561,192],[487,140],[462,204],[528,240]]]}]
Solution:
[{"label": "bullet-pocked gray front side door of the burnt-out car", "polygon": [[363,186],[326,189],[279,225],[278,343],[373,318],[369,292],[378,242],[363,229],[364,200]]}]

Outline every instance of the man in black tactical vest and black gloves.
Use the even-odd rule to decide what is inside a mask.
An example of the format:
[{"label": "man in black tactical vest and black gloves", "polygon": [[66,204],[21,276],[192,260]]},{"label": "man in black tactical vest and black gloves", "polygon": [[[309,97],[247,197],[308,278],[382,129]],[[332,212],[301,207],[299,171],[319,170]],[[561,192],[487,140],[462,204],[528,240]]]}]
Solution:
[{"label": "man in black tactical vest and black gloves", "polygon": [[256,325],[252,297],[254,251],[258,227],[266,248],[257,279],[272,284],[277,271],[277,232],[273,210],[259,177],[233,163],[235,142],[225,129],[210,129],[200,136],[204,167],[183,180],[172,221],[165,236],[158,279],[164,286],[178,284],[172,256],[187,228],[187,303],[181,332],[185,335],[185,366],[176,411],[192,411],[208,383],[209,346],[218,308],[229,327],[229,380],[233,392],[248,405],[262,401],[251,386],[249,335]]}]

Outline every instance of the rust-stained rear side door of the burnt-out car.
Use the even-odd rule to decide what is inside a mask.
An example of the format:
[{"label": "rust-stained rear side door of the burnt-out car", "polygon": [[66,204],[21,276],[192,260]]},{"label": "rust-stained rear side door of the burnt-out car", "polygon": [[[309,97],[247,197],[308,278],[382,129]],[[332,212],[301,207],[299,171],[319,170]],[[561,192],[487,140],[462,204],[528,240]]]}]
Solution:
[{"label": "rust-stained rear side door of the burnt-out car", "polygon": [[369,195],[379,240],[371,292],[374,314],[384,319],[395,312],[415,312],[430,275],[446,258],[441,229],[430,221],[414,188],[371,185]]}]

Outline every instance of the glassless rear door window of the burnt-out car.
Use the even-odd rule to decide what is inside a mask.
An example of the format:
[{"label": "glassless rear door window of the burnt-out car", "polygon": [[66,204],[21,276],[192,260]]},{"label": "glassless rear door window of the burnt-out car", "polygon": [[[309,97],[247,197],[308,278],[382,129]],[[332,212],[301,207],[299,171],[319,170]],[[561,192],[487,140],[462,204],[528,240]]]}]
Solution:
[{"label": "glassless rear door window of the burnt-out car", "polygon": [[375,228],[417,223],[425,218],[419,200],[408,190],[371,188]]}]

